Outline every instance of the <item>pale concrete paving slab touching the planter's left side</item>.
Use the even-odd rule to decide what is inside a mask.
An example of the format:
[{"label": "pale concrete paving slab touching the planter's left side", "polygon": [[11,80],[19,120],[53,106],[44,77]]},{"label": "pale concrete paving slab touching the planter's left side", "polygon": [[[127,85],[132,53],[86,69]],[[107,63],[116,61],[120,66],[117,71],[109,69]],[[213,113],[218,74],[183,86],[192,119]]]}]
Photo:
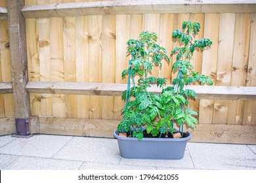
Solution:
[{"label": "pale concrete paving slab touching the planter's left side", "polygon": [[119,164],[116,139],[74,137],[54,158]]}]

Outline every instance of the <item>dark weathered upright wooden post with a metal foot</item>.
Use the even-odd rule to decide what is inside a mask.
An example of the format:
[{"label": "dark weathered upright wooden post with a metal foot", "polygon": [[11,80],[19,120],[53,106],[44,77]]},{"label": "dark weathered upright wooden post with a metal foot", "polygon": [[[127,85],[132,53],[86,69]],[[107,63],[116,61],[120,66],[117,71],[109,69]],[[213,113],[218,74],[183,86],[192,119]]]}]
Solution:
[{"label": "dark weathered upright wooden post with a metal foot", "polygon": [[20,10],[24,0],[8,0],[9,41],[11,50],[12,88],[16,121],[14,137],[30,137],[30,95],[28,83],[28,60],[26,53],[25,18]]}]

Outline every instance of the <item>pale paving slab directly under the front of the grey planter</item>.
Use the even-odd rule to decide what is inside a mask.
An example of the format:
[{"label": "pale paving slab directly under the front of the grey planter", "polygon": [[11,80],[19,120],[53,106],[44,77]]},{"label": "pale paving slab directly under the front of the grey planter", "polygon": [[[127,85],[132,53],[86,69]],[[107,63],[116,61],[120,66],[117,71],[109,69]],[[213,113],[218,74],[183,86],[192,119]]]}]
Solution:
[{"label": "pale paving slab directly under the front of the grey planter", "polygon": [[158,169],[194,169],[192,159],[186,148],[182,159],[126,159],[121,158],[120,165],[137,165],[142,167],[157,167]]}]

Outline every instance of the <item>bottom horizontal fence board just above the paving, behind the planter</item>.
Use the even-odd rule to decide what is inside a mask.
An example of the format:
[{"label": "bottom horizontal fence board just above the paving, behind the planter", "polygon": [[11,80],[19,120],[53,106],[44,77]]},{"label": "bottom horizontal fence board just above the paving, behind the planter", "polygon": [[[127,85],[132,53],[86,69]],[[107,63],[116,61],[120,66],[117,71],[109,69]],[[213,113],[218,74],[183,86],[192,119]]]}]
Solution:
[{"label": "bottom horizontal fence board just above the paving, behind the planter", "polygon": [[[118,120],[87,120],[77,118],[39,118],[40,133],[89,137],[113,137]],[[256,144],[256,126],[198,124],[190,142]]]}]

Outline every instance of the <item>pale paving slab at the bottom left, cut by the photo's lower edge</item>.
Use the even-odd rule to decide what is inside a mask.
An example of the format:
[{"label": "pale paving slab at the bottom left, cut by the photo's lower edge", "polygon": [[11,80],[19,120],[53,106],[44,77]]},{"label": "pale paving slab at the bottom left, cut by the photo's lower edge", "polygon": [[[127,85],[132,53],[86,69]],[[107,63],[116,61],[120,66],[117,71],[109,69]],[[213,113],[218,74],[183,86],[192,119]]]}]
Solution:
[{"label": "pale paving slab at the bottom left, cut by the photo's lower edge", "polygon": [[78,170],[82,161],[66,161],[60,159],[20,157],[12,161],[5,170]]}]

